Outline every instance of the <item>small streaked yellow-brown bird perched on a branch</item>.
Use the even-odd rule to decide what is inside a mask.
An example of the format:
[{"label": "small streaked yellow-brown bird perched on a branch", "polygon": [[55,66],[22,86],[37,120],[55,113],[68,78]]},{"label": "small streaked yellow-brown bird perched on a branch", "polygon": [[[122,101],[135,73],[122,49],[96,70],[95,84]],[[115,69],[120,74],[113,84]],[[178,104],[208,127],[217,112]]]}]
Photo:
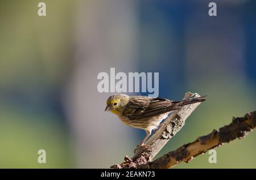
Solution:
[{"label": "small streaked yellow-brown bird perched on a branch", "polygon": [[127,126],[145,130],[147,135],[139,145],[147,146],[144,143],[151,135],[152,130],[158,128],[163,119],[166,119],[173,110],[203,101],[205,101],[205,96],[172,101],[166,98],[128,96],[118,93],[108,98],[105,112],[114,113]]}]

